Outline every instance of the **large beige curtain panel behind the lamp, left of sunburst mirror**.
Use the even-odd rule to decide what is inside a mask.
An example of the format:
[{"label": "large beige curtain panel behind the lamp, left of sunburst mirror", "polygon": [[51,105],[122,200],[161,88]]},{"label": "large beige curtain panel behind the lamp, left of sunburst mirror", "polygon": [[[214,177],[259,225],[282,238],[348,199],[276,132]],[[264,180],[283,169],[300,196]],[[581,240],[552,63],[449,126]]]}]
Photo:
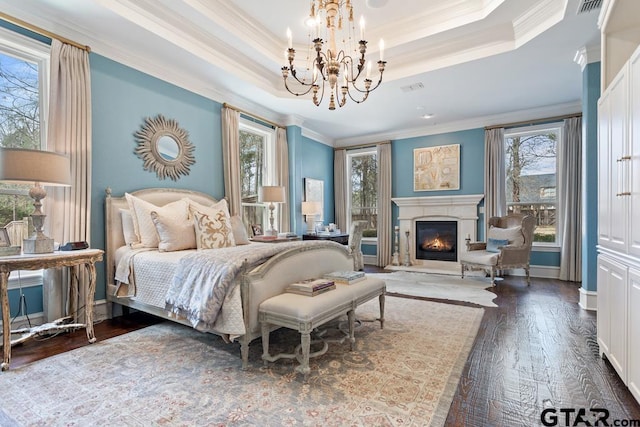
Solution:
[{"label": "large beige curtain panel behind the lamp, left of sunburst mirror", "polygon": [[[51,43],[47,149],[69,155],[71,187],[49,187],[44,202],[46,233],[56,242],[91,237],[91,72],[89,53],[58,40]],[[48,320],[63,315],[66,275],[44,274]],[[83,278],[80,278],[82,280]],[[80,295],[80,298],[84,298]]]}]

